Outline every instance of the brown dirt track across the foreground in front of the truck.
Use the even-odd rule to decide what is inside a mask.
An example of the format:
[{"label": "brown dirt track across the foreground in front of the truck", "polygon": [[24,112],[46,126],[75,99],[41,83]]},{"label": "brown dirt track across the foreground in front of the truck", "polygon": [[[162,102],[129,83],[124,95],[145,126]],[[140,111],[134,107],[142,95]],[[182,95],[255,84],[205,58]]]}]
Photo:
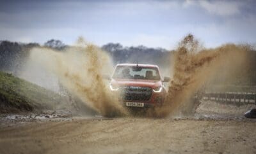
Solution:
[{"label": "brown dirt track across the foreground in front of the truck", "polygon": [[255,120],[148,118],[2,127],[0,153],[256,153]]}]

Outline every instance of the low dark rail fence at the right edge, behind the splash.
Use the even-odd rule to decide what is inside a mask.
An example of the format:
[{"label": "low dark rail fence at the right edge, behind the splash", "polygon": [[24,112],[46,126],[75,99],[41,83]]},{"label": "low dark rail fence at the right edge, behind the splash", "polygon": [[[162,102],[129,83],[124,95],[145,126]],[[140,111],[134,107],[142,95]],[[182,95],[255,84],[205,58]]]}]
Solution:
[{"label": "low dark rail fence at the right edge, behind the splash", "polygon": [[256,93],[246,92],[205,92],[203,99],[221,102],[241,102],[256,104]]}]

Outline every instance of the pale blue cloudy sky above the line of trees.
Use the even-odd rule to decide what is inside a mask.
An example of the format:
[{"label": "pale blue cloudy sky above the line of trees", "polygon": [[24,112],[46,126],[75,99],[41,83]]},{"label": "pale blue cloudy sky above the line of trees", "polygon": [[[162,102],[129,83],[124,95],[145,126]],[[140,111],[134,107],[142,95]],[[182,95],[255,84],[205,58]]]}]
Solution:
[{"label": "pale blue cloudy sky above the line of trees", "polygon": [[0,1],[0,40],[174,49],[191,33],[206,47],[256,43],[255,1]]}]

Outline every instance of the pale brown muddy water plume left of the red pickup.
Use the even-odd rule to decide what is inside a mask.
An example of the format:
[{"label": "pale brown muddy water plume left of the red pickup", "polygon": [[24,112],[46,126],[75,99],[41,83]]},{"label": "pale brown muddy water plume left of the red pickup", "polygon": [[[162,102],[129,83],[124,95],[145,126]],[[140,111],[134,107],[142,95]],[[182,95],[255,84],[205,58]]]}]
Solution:
[{"label": "pale brown muddy water plume left of the red pickup", "polygon": [[104,74],[112,73],[108,54],[80,38],[75,46],[63,52],[33,48],[31,59],[58,76],[68,91],[104,116],[126,115],[118,98],[109,92]]}]

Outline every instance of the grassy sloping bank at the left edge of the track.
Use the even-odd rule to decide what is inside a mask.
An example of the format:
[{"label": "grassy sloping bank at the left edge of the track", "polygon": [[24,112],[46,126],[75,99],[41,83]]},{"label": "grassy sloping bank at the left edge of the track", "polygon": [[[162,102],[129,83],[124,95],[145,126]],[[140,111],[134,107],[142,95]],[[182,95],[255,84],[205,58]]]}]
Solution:
[{"label": "grassy sloping bank at the left edge of the track", "polygon": [[47,109],[63,101],[51,90],[0,72],[0,113]]}]

